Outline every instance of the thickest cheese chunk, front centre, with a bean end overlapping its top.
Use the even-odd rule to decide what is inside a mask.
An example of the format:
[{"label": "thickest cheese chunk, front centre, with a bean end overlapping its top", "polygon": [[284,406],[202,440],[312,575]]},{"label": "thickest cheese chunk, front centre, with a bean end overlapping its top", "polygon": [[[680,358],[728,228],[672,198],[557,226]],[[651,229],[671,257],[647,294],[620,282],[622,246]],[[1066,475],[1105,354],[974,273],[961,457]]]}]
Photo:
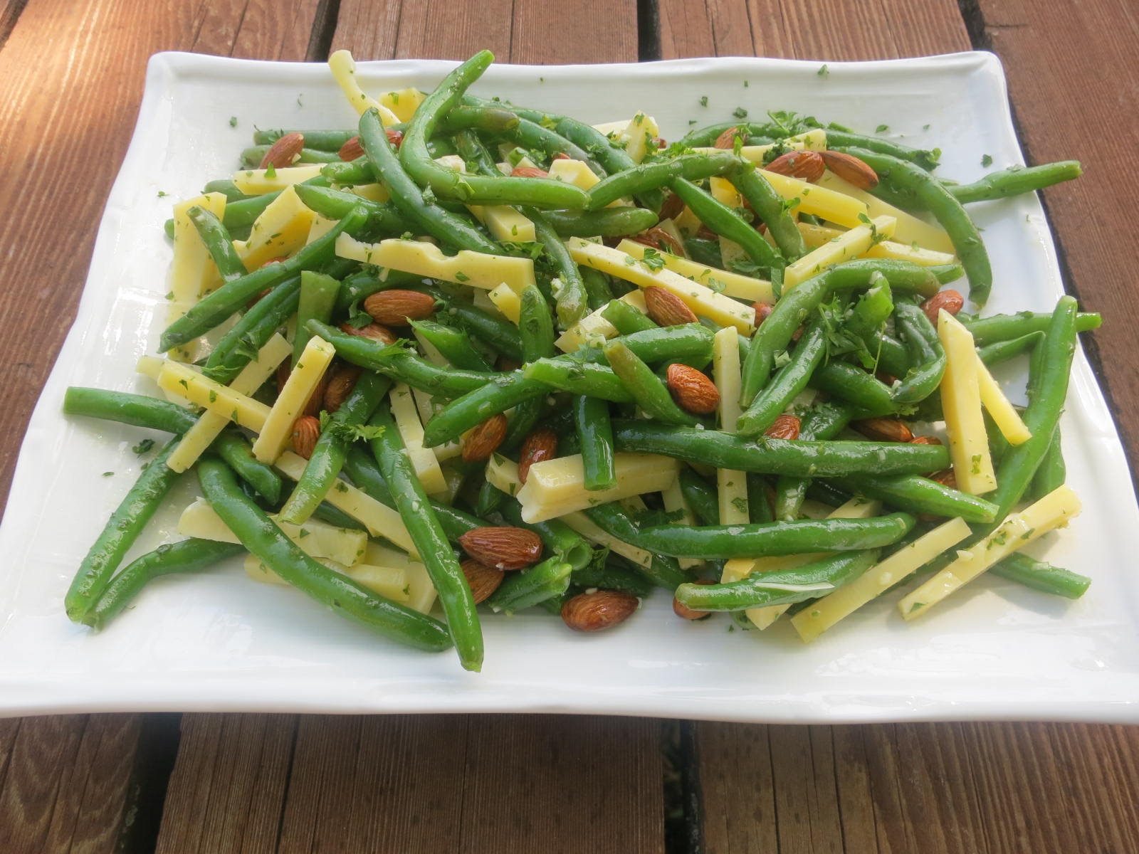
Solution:
[{"label": "thickest cheese chunk, front centre, with a bean end overlapping its top", "polygon": [[581,454],[558,457],[530,467],[526,483],[518,490],[524,522],[546,522],[584,510],[595,504],[617,501],[642,492],[661,492],[677,477],[678,463],[652,453],[614,454],[617,485],[609,490],[585,488]]}]

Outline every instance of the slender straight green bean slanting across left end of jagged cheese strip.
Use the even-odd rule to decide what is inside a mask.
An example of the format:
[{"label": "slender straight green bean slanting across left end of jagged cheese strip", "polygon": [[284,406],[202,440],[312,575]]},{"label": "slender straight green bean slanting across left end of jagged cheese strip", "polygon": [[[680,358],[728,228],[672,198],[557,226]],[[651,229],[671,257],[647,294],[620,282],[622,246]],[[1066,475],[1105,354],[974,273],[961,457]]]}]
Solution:
[{"label": "slender straight green bean slanting across left end of jagged cheese strip", "polygon": [[228,317],[237,312],[251,297],[267,287],[280,284],[294,273],[313,270],[333,257],[336,238],[355,233],[364,223],[363,208],[353,208],[327,233],[318,237],[293,257],[246,273],[240,279],[226,282],[212,294],[204,296],[181,318],[171,323],[162,334],[158,348],[166,352],[179,344],[194,340]]}]

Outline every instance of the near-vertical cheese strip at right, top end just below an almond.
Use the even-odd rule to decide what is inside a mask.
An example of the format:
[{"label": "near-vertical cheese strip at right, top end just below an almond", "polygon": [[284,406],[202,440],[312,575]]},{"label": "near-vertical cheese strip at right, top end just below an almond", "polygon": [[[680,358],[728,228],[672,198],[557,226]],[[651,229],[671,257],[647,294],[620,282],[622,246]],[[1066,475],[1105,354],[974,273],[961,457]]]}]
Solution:
[{"label": "near-vertical cheese strip at right, top end just below an almond", "polygon": [[944,309],[937,315],[937,337],[945,348],[945,373],[941,378],[941,407],[949,434],[949,457],[957,488],[981,495],[997,488],[989,435],[981,416],[976,350],[973,336]]}]

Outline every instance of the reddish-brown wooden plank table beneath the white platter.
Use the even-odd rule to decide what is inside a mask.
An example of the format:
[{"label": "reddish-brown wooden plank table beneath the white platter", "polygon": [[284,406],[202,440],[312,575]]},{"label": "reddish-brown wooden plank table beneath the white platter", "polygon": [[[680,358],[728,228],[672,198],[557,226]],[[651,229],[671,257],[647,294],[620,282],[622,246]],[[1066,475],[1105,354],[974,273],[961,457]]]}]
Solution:
[{"label": "reddish-brown wooden plank table beneath the white platter", "polygon": [[[3,0],[0,487],[67,331],[147,57],[871,59],[985,48],[1090,348],[1139,452],[1130,0]],[[1139,730],[759,726],[552,716],[71,715],[0,721],[0,852],[1139,851]]]}]

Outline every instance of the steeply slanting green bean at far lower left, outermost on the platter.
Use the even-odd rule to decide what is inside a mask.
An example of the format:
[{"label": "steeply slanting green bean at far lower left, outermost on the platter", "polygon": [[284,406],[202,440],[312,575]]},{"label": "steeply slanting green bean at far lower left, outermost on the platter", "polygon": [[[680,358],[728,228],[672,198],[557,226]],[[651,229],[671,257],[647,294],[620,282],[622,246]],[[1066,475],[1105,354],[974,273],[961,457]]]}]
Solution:
[{"label": "steeply slanting green bean at far lower left, outermost on the platter", "polygon": [[181,437],[178,436],[170,440],[147,463],[80,564],[64,598],[72,622],[83,622],[95,607],[123,557],[178,479],[179,473],[171,469],[166,460],[179,442]]}]

